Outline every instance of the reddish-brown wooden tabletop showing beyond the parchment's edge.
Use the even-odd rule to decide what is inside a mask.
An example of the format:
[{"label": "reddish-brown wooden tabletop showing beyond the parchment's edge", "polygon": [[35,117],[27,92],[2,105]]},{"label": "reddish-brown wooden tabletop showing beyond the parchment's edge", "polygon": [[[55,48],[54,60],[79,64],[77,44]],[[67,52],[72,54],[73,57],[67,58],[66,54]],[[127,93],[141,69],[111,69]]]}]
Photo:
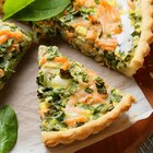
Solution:
[{"label": "reddish-brown wooden tabletop showing beyond the parchment's edge", "polygon": [[[134,75],[136,81],[153,107],[153,45],[152,51],[145,58],[144,67]],[[153,114],[144,120],[138,121],[127,130],[106,138],[76,153],[136,153],[141,143],[153,134]]]}]

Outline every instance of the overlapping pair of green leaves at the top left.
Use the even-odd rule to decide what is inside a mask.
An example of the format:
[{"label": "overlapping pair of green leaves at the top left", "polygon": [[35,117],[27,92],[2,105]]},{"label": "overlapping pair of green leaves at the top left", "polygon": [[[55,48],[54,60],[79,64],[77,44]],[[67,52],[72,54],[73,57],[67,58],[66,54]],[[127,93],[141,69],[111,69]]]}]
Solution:
[{"label": "overlapping pair of green leaves at the top left", "polygon": [[[22,2],[21,2],[22,1]],[[19,21],[40,21],[61,13],[71,0],[5,0],[3,21],[10,17]]]}]

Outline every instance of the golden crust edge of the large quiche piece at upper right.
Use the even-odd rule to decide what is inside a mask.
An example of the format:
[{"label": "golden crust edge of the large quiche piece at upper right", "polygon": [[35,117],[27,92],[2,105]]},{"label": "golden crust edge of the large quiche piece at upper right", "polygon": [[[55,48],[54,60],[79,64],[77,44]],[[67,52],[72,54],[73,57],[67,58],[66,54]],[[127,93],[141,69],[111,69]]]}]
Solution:
[{"label": "golden crust edge of the large quiche piece at upper right", "polygon": [[150,52],[150,44],[153,43],[153,0],[140,0],[142,23],[141,37],[130,64],[121,72],[128,76],[133,75],[143,66],[144,58]]}]

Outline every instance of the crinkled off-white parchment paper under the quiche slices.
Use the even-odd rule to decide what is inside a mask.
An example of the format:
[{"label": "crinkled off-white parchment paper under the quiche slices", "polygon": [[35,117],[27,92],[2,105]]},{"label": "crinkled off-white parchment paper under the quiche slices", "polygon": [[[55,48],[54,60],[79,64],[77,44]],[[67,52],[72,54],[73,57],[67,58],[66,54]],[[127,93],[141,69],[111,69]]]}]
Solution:
[{"label": "crinkled off-white parchment paper under the quiche slices", "polygon": [[[49,43],[50,44],[50,43]],[[11,105],[19,119],[19,139],[11,153],[69,153],[103,140],[114,133],[122,131],[138,120],[149,117],[152,107],[138,87],[134,80],[123,76],[113,70],[99,66],[93,59],[83,56],[78,50],[70,48],[66,43],[51,39],[51,45],[58,45],[60,51],[96,71],[111,86],[118,87],[125,93],[131,93],[137,98],[137,104],[123,115],[117,122],[107,127],[102,132],[91,136],[86,140],[75,141],[69,145],[59,145],[47,149],[40,140],[38,99],[37,99],[37,46],[32,47],[20,62],[16,73],[10,79],[0,93],[0,106]],[[129,136],[130,137],[130,136]]]}]

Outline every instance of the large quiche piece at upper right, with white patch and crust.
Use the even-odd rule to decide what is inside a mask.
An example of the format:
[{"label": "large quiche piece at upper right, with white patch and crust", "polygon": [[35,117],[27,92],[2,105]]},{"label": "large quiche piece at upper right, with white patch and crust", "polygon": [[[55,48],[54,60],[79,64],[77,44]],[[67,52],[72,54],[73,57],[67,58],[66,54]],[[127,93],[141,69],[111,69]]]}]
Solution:
[{"label": "large quiche piece at upper right, with white patch and crust", "polygon": [[61,35],[71,46],[131,76],[153,42],[153,0],[72,0],[58,16],[35,22],[38,35]]}]

